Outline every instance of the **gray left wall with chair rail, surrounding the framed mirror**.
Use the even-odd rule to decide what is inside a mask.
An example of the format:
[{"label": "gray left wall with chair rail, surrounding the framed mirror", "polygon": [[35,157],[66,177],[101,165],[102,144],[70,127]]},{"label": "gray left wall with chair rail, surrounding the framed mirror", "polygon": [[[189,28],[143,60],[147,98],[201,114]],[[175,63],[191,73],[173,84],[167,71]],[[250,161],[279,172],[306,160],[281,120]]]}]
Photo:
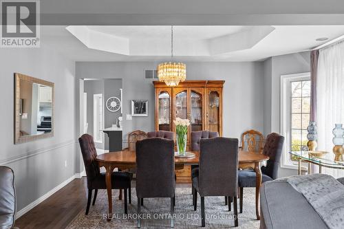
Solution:
[{"label": "gray left wall with chair rail, surrounding the framed mirror", "polygon": [[[21,210],[75,173],[75,65],[45,47],[1,48],[0,63],[0,164],[14,169]],[[14,72],[55,83],[54,137],[14,144]]]}]

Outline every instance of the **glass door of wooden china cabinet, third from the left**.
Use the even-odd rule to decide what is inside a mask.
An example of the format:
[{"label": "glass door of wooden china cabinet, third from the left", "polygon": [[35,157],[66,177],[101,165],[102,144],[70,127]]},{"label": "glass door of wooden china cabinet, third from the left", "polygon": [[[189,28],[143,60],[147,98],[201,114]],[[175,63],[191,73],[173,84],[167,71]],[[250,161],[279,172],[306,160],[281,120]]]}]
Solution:
[{"label": "glass door of wooden china cabinet, third from the left", "polygon": [[191,131],[202,131],[203,129],[203,89],[191,89],[190,122]]}]

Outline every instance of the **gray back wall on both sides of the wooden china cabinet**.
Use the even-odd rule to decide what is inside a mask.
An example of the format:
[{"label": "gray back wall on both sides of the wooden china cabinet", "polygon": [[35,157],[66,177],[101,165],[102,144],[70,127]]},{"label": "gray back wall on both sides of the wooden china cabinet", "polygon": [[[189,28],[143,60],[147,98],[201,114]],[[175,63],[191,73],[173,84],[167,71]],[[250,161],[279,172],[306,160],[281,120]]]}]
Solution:
[{"label": "gray back wall on both sides of the wooden china cabinet", "polygon": [[[80,78],[122,79],[123,139],[126,140],[127,133],[133,130],[154,129],[154,87],[151,81],[144,80],[144,69],[155,69],[159,63],[77,62],[76,82]],[[187,80],[226,80],[223,113],[225,136],[239,138],[246,129],[264,131],[264,63],[190,62],[186,63],[186,67]],[[149,117],[125,119],[126,114],[131,113],[130,101],[133,99],[149,100]]]}]

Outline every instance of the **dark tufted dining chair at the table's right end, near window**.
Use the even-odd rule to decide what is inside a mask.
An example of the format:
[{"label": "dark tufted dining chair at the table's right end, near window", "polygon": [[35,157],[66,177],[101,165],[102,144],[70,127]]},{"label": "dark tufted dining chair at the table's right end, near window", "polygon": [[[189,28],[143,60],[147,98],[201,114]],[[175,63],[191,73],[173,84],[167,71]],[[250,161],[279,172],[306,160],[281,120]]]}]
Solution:
[{"label": "dark tufted dining chair at the table's right end, near window", "polygon": [[[277,179],[281,160],[284,137],[278,133],[270,133],[266,137],[263,154],[269,156],[266,166],[261,166],[261,182]],[[243,209],[244,187],[256,186],[256,173],[253,170],[241,170],[238,175],[240,213]]]}]

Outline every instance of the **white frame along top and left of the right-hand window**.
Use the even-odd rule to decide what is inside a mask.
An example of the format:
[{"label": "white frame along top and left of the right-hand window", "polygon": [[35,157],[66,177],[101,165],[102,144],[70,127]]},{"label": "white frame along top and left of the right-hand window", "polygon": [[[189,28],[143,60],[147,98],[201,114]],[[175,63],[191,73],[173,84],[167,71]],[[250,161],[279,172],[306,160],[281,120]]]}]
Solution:
[{"label": "white frame along top and left of the right-hand window", "polygon": [[281,134],[285,136],[281,168],[298,169],[297,162],[290,160],[290,82],[310,80],[310,72],[281,76]]}]

